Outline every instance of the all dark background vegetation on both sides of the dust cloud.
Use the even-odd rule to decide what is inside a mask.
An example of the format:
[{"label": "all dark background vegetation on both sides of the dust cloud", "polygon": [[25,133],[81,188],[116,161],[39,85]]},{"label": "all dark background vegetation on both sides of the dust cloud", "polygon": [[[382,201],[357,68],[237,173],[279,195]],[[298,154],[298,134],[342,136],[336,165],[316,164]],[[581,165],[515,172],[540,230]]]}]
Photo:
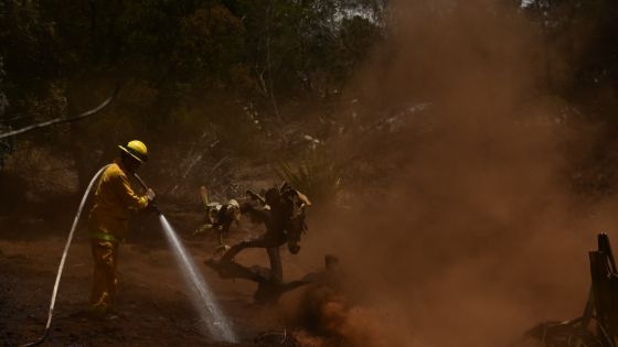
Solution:
[{"label": "all dark background vegetation on both sides of the dust cloud", "polygon": [[[277,169],[281,176],[306,181],[302,177],[317,175],[321,161],[296,158],[292,144],[303,133],[290,129],[305,127],[305,133],[328,140],[359,126],[363,117],[373,121],[382,111],[373,105],[365,111],[369,116],[353,113],[345,120],[334,115],[354,98],[349,90],[352,78],[393,35],[396,17],[388,3],[0,1],[0,128],[78,113],[122,82],[117,100],[100,117],[20,137],[10,149],[18,154],[36,147],[66,153],[81,186],[117,143],[132,138],[160,153],[153,160],[162,165],[173,165],[170,158],[190,156],[174,173],[166,172],[172,174],[168,182],[209,173],[215,165],[223,170],[225,165],[217,164],[231,158],[263,163],[283,159]],[[431,1],[418,3],[418,15],[437,11]],[[451,10],[465,8],[465,1],[452,2]],[[512,1],[507,11],[528,19],[544,43],[533,57],[544,72],[540,93],[562,100],[573,117],[586,117],[605,129],[590,145],[592,153],[575,159],[575,184],[583,191],[614,185],[618,172],[611,162],[618,151],[607,148],[618,148],[618,3]],[[388,52],[381,53],[382,59],[388,58]],[[365,160],[362,167],[371,163]],[[342,165],[322,167],[335,172],[322,177],[328,183],[299,184],[337,191],[338,177],[351,175],[339,171],[354,169]]]}]

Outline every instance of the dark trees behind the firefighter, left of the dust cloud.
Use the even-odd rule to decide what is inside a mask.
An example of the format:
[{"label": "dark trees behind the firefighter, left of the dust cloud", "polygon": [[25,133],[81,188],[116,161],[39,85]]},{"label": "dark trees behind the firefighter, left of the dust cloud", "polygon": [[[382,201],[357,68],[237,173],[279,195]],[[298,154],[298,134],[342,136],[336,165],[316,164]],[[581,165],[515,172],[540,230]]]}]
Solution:
[{"label": "dark trees behind the firefighter, left of the dust cloud", "polygon": [[[182,153],[215,129],[213,156],[259,154],[265,141],[253,121],[279,127],[301,113],[298,105],[320,107],[323,95],[341,90],[381,37],[382,24],[369,20],[379,2],[0,1],[0,96],[10,100],[0,97],[0,117],[19,118],[3,124],[17,128],[74,115],[122,82],[102,117],[29,140],[71,153],[81,178],[93,170],[81,163],[96,165],[110,154],[102,149],[132,138]],[[248,106],[255,119],[243,111]],[[93,148],[75,149],[82,142]]]}]

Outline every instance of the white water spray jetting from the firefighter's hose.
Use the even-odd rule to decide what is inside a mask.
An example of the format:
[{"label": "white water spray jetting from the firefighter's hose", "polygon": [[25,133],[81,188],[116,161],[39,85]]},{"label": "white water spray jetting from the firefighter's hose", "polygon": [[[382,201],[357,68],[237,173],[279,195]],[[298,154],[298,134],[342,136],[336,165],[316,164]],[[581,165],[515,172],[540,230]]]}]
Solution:
[{"label": "white water spray jetting from the firefighter's hose", "polygon": [[[148,185],[146,185],[143,180],[141,180],[141,177],[137,174],[134,175],[141,186],[148,191]],[[203,275],[198,270],[199,268],[191,258],[191,254],[154,202],[151,202],[151,206],[159,215],[159,221],[161,223],[161,228],[163,229],[166,239],[171,246],[173,256],[180,265],[184,282],[187,282],[187,285],[191,290],[191,300],[193,305],[198,310],[200,318],[206,324],[209,333],[214,339],[227,343],[237,343],[238,338],[236,337],[236,334],[232,329],[227,317],[225,317],[219,307],[212,291],[210,290]]]}]

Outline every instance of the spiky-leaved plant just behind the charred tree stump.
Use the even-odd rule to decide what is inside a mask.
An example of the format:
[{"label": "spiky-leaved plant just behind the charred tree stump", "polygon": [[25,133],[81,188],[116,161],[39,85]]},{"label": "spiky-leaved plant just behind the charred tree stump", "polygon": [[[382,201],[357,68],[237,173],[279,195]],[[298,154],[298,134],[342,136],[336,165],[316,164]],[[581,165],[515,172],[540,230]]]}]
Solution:
[{"label": "spiky-leaved plant just behind the charred tree stump", "polygon": [[334,203],[342,187],[341,169],[322,151],[313,151],[308,158],[296,163],[280,161],[273,170],[279,178],[320,205]]}]

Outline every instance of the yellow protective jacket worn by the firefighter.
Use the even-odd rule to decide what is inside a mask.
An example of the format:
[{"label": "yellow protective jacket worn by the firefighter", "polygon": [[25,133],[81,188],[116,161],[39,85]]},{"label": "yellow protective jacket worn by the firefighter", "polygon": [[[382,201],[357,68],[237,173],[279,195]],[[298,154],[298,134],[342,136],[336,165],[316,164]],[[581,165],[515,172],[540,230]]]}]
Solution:
[{"label": "yellow protective jacket worn by the firefighter", "polygon": [[98,181],[88,217],[90,238],[122,241],[129,228],[130,212],[146,207],[148,198],[135,194],[120,160],[115,160]]}]

